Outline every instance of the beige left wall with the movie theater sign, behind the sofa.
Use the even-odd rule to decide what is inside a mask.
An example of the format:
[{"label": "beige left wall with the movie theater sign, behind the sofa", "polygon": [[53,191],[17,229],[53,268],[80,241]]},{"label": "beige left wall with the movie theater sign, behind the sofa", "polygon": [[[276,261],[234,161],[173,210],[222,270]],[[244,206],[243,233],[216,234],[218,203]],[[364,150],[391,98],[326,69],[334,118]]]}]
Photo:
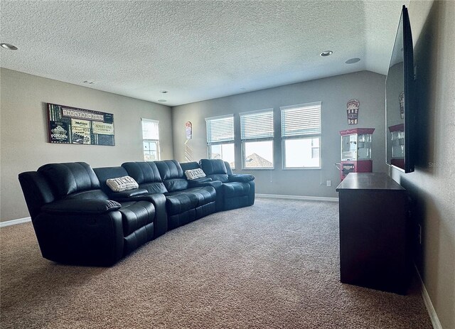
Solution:
[{"label": "beige left wall with the movie theater sign, behind the sofa", "polygon": [[[85,161],[100,167],[142,161],[141,117],[159,120],[161,158],[173,158],[169,107],[12,70],[0,72],[1,221],[29,216],[18,173],[53,162]],[[115,146],[48,143],[46,102],[113,113]]]}]

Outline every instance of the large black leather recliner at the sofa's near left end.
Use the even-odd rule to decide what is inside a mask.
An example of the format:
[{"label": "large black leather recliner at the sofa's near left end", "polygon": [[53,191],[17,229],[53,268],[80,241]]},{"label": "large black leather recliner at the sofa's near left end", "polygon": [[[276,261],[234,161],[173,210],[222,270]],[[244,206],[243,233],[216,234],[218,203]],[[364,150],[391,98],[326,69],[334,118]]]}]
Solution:
[{"label": "large black leather recliner at the sofa's near left end", "polygon": [[154,205],[109,200],[87,163],[47,164],[18,178],[46,259],[110,266],[154,238]]}]

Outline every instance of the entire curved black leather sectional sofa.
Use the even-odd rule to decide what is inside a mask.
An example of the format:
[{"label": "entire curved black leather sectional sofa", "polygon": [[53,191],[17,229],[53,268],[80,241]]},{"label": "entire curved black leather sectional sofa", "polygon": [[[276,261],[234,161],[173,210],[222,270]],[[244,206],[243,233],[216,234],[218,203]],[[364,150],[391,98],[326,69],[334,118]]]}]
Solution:
[{"label": "entire curved black leather sectional sofa", "polygon": [[[187,179],[193,169],[205,177]],[[137,188],[117,192],[107,184],[124,176]],[[18,178],[43,257],[65,264],[110,266],[168,230],[255,202],[254,176],[233,175],[214,159],[94,169],[50,163]]]}]

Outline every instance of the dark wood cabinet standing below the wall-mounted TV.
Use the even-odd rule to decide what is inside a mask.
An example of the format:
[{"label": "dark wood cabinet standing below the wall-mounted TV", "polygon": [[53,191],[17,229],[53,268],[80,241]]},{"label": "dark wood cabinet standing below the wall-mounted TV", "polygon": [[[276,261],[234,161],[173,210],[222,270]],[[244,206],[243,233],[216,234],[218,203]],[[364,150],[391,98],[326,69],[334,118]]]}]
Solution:
[{"label": "dark wood cabinet standing below the wall-mounted TV", "polygon": [[410,276],[407,191],[385,173],[350,173],[336,190],[341,282],[405,294]]}]

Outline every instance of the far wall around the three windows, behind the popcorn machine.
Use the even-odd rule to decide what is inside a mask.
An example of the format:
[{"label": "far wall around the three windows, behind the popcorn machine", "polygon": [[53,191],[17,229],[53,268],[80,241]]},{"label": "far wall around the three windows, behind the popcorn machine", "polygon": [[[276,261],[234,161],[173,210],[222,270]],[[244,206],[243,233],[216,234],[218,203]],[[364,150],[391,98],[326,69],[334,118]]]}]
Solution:
[{"label": "far wall around the three windows, behind the popcorn machine", "polygon": [[[346,102],[360,101],[357,125],[348,125]],[[282,170],[282,141],[279,107],[321,101],[322,169]],[[242,170],[239,112],[274,108],[274,170]],[[209,99],[173,107],[173,147],[176,160],[185,160],[185,122],[193,124],[193,139],[186,144],[193,160],[207,157],[205,117],[235,114],[235,157],[237,173],[256,177],[257,193],[338,197],[340,183],[335,163],[340,162],[340,130],[355,127],[375,128],[373,134],[373,170],[387,172],[385,165],[385,76],[363,71],[336,77],[301,82],[241,95]],[[326,186],[332,180],[332,186]]]}]

